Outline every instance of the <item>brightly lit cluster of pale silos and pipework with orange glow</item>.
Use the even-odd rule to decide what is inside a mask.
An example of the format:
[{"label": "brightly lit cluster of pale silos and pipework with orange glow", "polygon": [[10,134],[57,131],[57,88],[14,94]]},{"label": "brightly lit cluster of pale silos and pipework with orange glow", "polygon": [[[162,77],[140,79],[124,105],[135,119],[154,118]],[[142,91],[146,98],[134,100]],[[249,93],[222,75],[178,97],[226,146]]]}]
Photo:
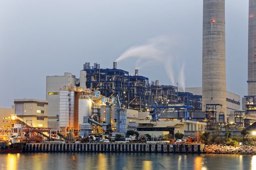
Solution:
[{"label": "brightly lit cluster of pale silos and pipework with orange glow", "polygon": [[[87,136],[111,131],[115,101],[100,95],[99,91],[76,86],[59,90],[59,132],[64,136]],[[111,108],[112,107],[112,108]],[[71,132],[72,131],[72,132]]]}]

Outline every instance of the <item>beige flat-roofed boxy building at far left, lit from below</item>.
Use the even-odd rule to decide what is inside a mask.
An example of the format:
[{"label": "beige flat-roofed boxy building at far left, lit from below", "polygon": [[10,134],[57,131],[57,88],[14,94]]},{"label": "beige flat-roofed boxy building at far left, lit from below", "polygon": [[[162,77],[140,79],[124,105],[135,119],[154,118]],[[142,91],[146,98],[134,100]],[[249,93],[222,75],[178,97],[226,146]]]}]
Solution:
[{"label": "beige flat-roofed boxy building at far left, lit from below", "polygon": [[48,102],[38,99],[15,99],[14,113],[32,127],[48,127]]}]

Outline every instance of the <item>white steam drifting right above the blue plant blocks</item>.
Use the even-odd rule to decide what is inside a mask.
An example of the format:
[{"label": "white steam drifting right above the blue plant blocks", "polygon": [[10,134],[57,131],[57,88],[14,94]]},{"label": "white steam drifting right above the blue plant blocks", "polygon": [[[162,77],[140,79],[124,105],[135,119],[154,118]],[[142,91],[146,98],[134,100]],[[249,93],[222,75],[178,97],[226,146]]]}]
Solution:
[{"label": "white steam drifting right above the blue plant blocks", "polygon": [[[128,50],[124,51],[116,60],[116,62],[121,62],[128,60],[130,58],[137,58],[135,67],[136,69],[141,69],[149,66],[154,66],[156,64],[162,64],[171,81],[172,85],[176,85],[175,73],[173,68],[177,68],[175,64],[175,56],[171,55],[171,50],[174,44],[171,38],[167,36],[158,36],[147,40],[143,45],[133,46]],[[178,60],[180,61],[180,60]],[[178,63],[178,62],[176,62]],[[182,90],[185,90],[185,74],[184,74],[184,64],[179,71],[178,83]],[[179,69],[179,68],[178,68]]]}]

